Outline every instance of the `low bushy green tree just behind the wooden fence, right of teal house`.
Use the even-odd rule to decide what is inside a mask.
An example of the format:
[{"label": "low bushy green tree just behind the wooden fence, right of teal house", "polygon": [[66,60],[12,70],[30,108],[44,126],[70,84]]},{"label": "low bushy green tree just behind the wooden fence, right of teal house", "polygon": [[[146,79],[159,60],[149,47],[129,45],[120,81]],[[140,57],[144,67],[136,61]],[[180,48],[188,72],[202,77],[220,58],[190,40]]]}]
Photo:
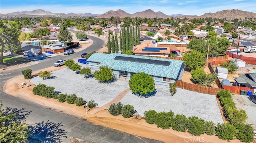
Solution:
[{"label": "low bushy green tree just behind the wooden fence, right of teal house", "polygon": [[202,69],[195,69],[191,71],[191,78],[198,85],[211,86],[212,82],[217,79],[217,74],[206,74]]}]

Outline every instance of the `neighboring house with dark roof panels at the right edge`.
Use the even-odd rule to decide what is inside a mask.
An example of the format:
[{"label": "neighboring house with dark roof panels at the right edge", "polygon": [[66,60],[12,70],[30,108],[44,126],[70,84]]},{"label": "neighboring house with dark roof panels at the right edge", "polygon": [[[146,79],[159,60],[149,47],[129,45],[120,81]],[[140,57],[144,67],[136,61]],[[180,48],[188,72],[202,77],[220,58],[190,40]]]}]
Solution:
[{"label": "neighboring house with dark roof panels at the right edge", "polygon": [[238,74],[239,77],[235,77],[235,84],[237,86],[244,86],[254,89],[256,92],[256,73]]}]

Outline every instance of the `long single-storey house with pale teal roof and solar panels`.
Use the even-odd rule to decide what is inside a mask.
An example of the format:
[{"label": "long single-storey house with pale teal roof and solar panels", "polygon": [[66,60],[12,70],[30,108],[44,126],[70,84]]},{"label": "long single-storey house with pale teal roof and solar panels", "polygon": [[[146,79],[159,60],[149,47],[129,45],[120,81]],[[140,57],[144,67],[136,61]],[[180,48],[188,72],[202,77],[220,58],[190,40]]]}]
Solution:
[{"label": "long single-storey house with pale teal roof and solar panels", "polygon": [[91,68],[99,69],[100,66],[111,68],[117,78],[125,75],[130,79],[133,74],[145,72],[152,76],[156,84],[162,85],[169,85],[179,80],[184,74],[185,67],[184,61],[180,60],[117,53],[94,53],[87,61]]}]

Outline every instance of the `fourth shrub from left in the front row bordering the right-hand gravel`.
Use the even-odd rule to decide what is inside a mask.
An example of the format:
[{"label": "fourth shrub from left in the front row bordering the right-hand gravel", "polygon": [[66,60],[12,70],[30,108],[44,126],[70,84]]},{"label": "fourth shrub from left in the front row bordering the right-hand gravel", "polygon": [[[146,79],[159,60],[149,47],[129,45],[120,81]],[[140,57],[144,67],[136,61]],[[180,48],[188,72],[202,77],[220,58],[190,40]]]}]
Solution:
[{"label": "fourth shrub from left in the front row bordering the right-hand gravel", "polygon": [[188,117],[188,133],[191,135],[201,135],[205,133],[204,130],[204,120],[203,119],[198,119],[198,117]]}]

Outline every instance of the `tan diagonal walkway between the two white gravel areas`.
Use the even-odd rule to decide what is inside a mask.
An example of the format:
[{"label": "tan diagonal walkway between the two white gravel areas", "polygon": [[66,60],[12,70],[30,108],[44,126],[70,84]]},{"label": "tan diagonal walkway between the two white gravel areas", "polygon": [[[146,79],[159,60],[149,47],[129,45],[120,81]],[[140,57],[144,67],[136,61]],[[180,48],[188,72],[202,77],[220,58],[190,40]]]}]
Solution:
[{"label": "tan diagonal walkway between the two white gravel areas", "polygon": [[90,111],[89,113],[90,113],[90,114],[96,114],[97,112],[100,112],[100,111],[102,111],[102,110],[107,109],[112,103],[117,103],[118,101],[120,101],[120,100],[124,97],[124,95],[125,95],[126,93],[128,93],[129,91],[130,91],[130,88],[127,88],[126,90],[122,91],[118,96],[116,96],[116,98],[113,99],[113,100],[112,100],[111,102],[109,102],[108,104],[105,104],[105,105],[103,105],[103,106],[101,106],[101,107],[99,107],[99,108],[96,108],[96,109]]}]

